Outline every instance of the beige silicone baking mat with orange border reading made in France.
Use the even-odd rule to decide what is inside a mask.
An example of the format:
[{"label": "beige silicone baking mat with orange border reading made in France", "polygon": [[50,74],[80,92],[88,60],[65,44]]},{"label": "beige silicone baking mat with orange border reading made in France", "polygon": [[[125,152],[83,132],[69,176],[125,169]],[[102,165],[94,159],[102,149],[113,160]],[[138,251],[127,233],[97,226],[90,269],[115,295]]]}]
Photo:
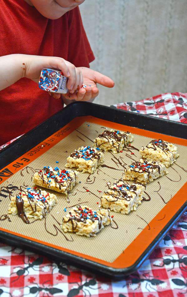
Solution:
[{"label": "beige silicone baking mat with orange border reading made in France", "polygon": [[[134,135],[131,146],[122,153],[104,153],[104,166],[89,175],[79,173],[77,184],[66,197],[55,192],[58,203],[41,221],[25,224],[17,215],[7,215],[9,198],[20,192],[20,187],[33,186],[31,175],[51,165],[64,169],[66,158],[74,149],[93,145],[93,139],[104,129],[130,131]],[[64,233],[60,229],[62,217],[74,205],[87,205],[98,209],[107,183],[120,179],[124,165],[138,160],[138,149],[151,139],[161,138],[177,145],[180,157],[168,168],[168,175],[146,187],[144,201],[128,215],[111,212],[113,221],[96,237],[82,237]],[[0,230],[46,246],[65,251],[114,268],[133,265],[156,238],[163,227],[186,201],[187,190],[187,140],[158,134],[94,118],[79,117],[55,132],[48,139],[3,168],[0,173]],[[59,161],[56,164],[56,161]],[[105,166],[106,165],[106,166]],[[49,192],[52,192],[49,190]],[[30,219],[30,222],[34,220]],[[41,251],[42,252],[42,251]]]}]

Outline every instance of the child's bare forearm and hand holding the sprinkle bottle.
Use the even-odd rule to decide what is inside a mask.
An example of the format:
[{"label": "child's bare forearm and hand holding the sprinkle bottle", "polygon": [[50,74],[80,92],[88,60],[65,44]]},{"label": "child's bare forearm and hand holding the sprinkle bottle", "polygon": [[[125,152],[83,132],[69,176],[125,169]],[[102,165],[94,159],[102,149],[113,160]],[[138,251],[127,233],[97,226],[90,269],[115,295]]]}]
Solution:
[{"label": "child's bare forearm and hand holding the sprinkle bottle", "polygon": [[38,83],[42,68],[63,71],[64,75],[69,77],[67,88],[71,93],[83,84],[81,70],[62,58],[13,54],[0,57],[0,90],[14,84],[22,77]]}]

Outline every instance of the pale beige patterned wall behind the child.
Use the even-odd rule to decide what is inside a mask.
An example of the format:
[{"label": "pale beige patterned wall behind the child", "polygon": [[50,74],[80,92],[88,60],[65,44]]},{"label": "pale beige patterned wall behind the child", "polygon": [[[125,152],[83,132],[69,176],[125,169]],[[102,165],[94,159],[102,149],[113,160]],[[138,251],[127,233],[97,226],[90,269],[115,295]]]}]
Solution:
[{"label": "pale beige patterned wall behind the child", "polygon": [[80,10],[90,66],[115,81],[96,103],[187,92],[187,0],[86,0]]}]

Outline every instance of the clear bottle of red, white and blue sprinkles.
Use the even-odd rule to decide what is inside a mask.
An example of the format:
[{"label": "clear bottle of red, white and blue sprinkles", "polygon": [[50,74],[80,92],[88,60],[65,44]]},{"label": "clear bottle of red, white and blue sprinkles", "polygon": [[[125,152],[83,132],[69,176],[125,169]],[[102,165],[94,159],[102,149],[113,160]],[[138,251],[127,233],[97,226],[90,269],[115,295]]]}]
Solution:
[{"label": "clear bottle of red, white and blue sprinkles", "polygon": [[38,82],[39,88],[44,91],[66,94],[68,78],[61,71],[43,68]]}]

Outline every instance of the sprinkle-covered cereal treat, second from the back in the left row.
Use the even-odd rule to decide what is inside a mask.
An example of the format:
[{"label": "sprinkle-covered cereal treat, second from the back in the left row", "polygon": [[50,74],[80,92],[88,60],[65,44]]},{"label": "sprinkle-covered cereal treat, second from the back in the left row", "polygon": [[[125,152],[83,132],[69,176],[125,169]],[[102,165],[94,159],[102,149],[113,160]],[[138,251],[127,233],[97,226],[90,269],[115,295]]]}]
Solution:
[{"label": "sprinkle-covered cereal treat, second from the back in the left row", "polygon": [[99,148],[91,148],[90,146],[82,146],[75,149],[67,158],[65,167],[77,168],[77,170],[94,173],[100,164],[103,163],[104,154]]}]

